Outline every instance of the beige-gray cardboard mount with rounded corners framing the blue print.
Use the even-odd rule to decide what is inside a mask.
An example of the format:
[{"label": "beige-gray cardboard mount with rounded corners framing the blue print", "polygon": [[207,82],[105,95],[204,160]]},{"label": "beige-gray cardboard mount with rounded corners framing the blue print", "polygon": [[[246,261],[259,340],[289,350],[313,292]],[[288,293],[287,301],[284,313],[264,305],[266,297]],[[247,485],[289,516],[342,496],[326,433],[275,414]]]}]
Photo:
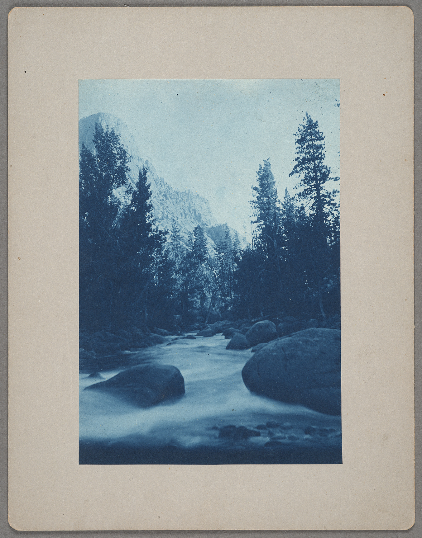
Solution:
[{"label": "beige-gray cardboard mount with rounded corners framing the blue print", "polygon": [[[11,526],[411,527],[412,11],[16,8],[8,62]],[[340,79],[342,465],[78,464],[78,79],[89,78]]]}]

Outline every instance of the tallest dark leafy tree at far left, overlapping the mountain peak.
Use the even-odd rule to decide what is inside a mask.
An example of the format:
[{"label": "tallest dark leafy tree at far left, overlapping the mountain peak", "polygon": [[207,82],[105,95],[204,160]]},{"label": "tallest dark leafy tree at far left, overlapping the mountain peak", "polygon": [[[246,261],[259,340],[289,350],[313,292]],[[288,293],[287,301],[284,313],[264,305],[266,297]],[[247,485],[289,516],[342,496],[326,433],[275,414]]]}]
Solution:
[{"label": "tallest dark leafy tree at far left, overlapping the mountain peak", "polygon": [[79,269],[81,325],[105,327],[121,245],[115,228],[121,203],[115,189],[127,182],[130,157],[114,130],[95,126],[95,154],[82,144],[79,159]]}]

